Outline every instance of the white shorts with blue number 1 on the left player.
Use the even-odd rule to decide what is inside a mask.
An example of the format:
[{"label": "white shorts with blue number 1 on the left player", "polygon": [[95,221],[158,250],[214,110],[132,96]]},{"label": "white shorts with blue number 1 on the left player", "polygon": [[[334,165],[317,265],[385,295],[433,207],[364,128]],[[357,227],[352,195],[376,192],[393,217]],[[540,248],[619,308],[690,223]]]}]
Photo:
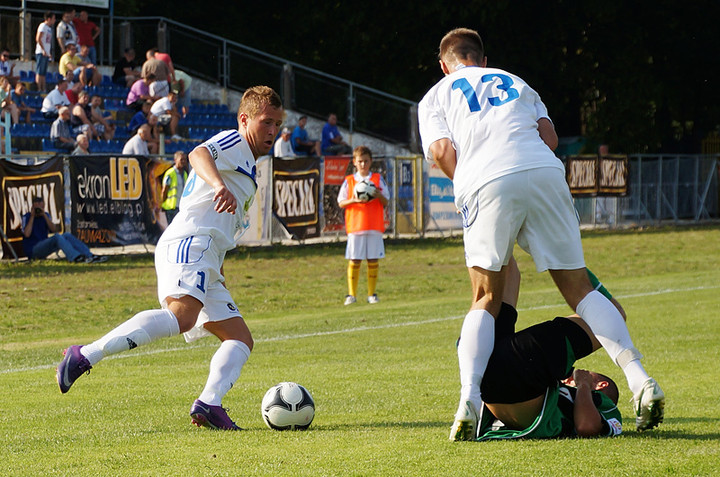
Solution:
[{"label": "white shorts with blue number 1 on the left player", "polygon": [[208,235],[160,241],[155,248],[155,271],[158,278],[158,300],[167,307],[167,297],[190,295],[204,305],[195,327],[184,334],[191,342],[211,333],[204,324],[242,316],[223,285],[220,274],[225,254],[219,252]]}]

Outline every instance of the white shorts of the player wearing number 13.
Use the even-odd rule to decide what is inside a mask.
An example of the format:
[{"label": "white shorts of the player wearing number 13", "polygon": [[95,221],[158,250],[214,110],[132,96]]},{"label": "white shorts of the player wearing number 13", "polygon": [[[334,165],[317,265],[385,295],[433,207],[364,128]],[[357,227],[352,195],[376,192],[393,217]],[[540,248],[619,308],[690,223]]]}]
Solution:
[{"label": "white shorts of the player wearing number 13", "polygon": [[538,272],[585,267],[577,215],[561,169],[543,167],[495,179],[461,212],[468,267],[499,271],[516,239]]}]

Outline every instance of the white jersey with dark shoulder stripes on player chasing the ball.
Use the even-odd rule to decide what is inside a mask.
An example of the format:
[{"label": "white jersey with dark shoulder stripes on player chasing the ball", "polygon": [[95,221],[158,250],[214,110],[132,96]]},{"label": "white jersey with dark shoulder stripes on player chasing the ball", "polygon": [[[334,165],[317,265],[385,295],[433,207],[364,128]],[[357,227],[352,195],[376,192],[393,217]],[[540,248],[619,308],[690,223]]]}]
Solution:
[{"label": "white jersey with dark shoulder stripes on player chasing the ball", "polygon": [[210,235],[220,251],[235,247],[244,230],[244,219],[257,190],[255,158],[247,141],[236,130],[223,131],[198,147],[215,159],[225,186],[237,199],[235,214],[215,211],[215,191],[195,171],[190,172],[180,198],[180,211],[165,230],[161,241],[191,235]]}]

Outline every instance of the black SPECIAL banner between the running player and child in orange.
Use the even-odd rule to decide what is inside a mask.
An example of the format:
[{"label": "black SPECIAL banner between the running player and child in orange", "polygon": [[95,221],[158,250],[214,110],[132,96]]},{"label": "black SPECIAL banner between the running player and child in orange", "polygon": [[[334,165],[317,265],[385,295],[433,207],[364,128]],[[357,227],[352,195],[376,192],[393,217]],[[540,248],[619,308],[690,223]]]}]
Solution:
[{"label": "black SPECIAL banner between the running player and child in orange", "polygon": [[320,158],[273,158],[273,211],[300,239],[320,236]]}]

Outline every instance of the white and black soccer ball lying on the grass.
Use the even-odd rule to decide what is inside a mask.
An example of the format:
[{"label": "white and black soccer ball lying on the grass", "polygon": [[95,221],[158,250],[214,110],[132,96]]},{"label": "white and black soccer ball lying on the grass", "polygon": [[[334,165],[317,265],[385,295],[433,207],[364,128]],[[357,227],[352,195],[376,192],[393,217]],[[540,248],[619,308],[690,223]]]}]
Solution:
[{"label": "white and black soccer ball lying on the grass", "polygon": [[265,393],[260,410],[270,429],[305,430],[315,417],[315,401],[303,386],[280,383]]}]

